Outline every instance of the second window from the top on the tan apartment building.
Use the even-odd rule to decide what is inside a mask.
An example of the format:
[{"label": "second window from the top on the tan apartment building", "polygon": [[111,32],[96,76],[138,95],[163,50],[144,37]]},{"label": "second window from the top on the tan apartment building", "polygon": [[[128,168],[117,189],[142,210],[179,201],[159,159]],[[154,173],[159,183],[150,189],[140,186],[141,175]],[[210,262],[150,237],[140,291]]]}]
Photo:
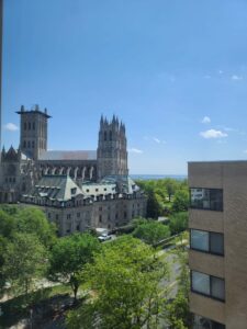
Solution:
[{"label": "second window from the top on the tan apartment building", "polygon": [[199,251],[224,254],[224,235],[214,231],[191,229],[190,248]]}]

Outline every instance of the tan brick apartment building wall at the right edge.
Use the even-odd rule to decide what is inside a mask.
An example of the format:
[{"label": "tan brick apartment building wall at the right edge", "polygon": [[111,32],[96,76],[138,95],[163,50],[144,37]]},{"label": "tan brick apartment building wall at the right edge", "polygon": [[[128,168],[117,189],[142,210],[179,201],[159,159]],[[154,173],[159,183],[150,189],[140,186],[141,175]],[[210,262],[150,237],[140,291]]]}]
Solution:
[{"label": "tan brick apartment building wall at the right edge", "polygon": [[[198,200],[193,205],[192,201],[189,216],[191,275],[195,272],[211,277],[210,292],[204,291],[204,279],[202,281],[192,279],[191,282],[190,309],[197,315],[194,328],[245,329],[247,328],[247,161],[191,162],[189,185],[190,189],[213,191],[210,204],[206,204],[205,200],[204,203]],[[222,191],[222,194],[218,191]],[[216,205],[220,201],[220,197],[215,197],[217,193],[222,195],[222,207]],[[201,238],[193,240],[194,232]],[[214,240],[209,250],[205,250],[207,247],[202,239],[209,234],[214,235]],[[220,237],[224,242],[221,246],[222,252],[217,249]],[[201,274],[197,274],[195,277],[202,279]],[[211,327],[205,327],[206,324]]]}]

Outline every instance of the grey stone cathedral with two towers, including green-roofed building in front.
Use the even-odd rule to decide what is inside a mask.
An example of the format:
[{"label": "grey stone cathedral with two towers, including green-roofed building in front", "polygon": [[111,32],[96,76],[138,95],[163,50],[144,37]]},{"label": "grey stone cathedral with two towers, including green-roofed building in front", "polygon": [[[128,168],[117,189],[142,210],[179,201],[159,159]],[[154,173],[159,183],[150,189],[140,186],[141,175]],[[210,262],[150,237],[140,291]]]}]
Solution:
[{"label": "grey stone cathedral with two towers, including green-roofed building in front", "polygon": [[20,146],[4,147],[0,203],[42,208],[60,236],[110,230],[145,216],[144,193],[128,175],[125,125],[100,120],[97,150],[47,150],[48,115],[38,105],[20,111]]}]

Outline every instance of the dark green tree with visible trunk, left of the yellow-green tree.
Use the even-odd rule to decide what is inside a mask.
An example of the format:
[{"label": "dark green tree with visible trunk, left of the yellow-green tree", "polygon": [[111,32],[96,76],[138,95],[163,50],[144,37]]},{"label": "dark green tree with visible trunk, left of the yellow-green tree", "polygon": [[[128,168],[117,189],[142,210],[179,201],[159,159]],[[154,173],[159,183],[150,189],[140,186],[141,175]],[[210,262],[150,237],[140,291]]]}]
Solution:
[{"label": "dark green tree with visible trunk, left of the yellow-green tree", "polygon": [[50,251],[48,279],[69,283],[76,300],[83,268],[92,262],[93,253],[99,249],[99,240],[90,234],[74,234],[58,239]]}]

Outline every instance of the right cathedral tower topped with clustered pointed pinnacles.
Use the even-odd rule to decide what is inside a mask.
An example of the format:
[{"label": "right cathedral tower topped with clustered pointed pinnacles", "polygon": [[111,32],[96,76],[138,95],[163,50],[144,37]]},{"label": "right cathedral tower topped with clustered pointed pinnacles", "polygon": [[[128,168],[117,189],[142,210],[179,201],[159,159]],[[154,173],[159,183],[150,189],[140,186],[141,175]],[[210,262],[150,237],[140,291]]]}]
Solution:
[{"label": "right cathedral tower topped with clustered pointed pinnacles", "polygon": [[128,174],[125,125],[114,115],[112,122],[101,116],[97,159],[98,179]]}]

